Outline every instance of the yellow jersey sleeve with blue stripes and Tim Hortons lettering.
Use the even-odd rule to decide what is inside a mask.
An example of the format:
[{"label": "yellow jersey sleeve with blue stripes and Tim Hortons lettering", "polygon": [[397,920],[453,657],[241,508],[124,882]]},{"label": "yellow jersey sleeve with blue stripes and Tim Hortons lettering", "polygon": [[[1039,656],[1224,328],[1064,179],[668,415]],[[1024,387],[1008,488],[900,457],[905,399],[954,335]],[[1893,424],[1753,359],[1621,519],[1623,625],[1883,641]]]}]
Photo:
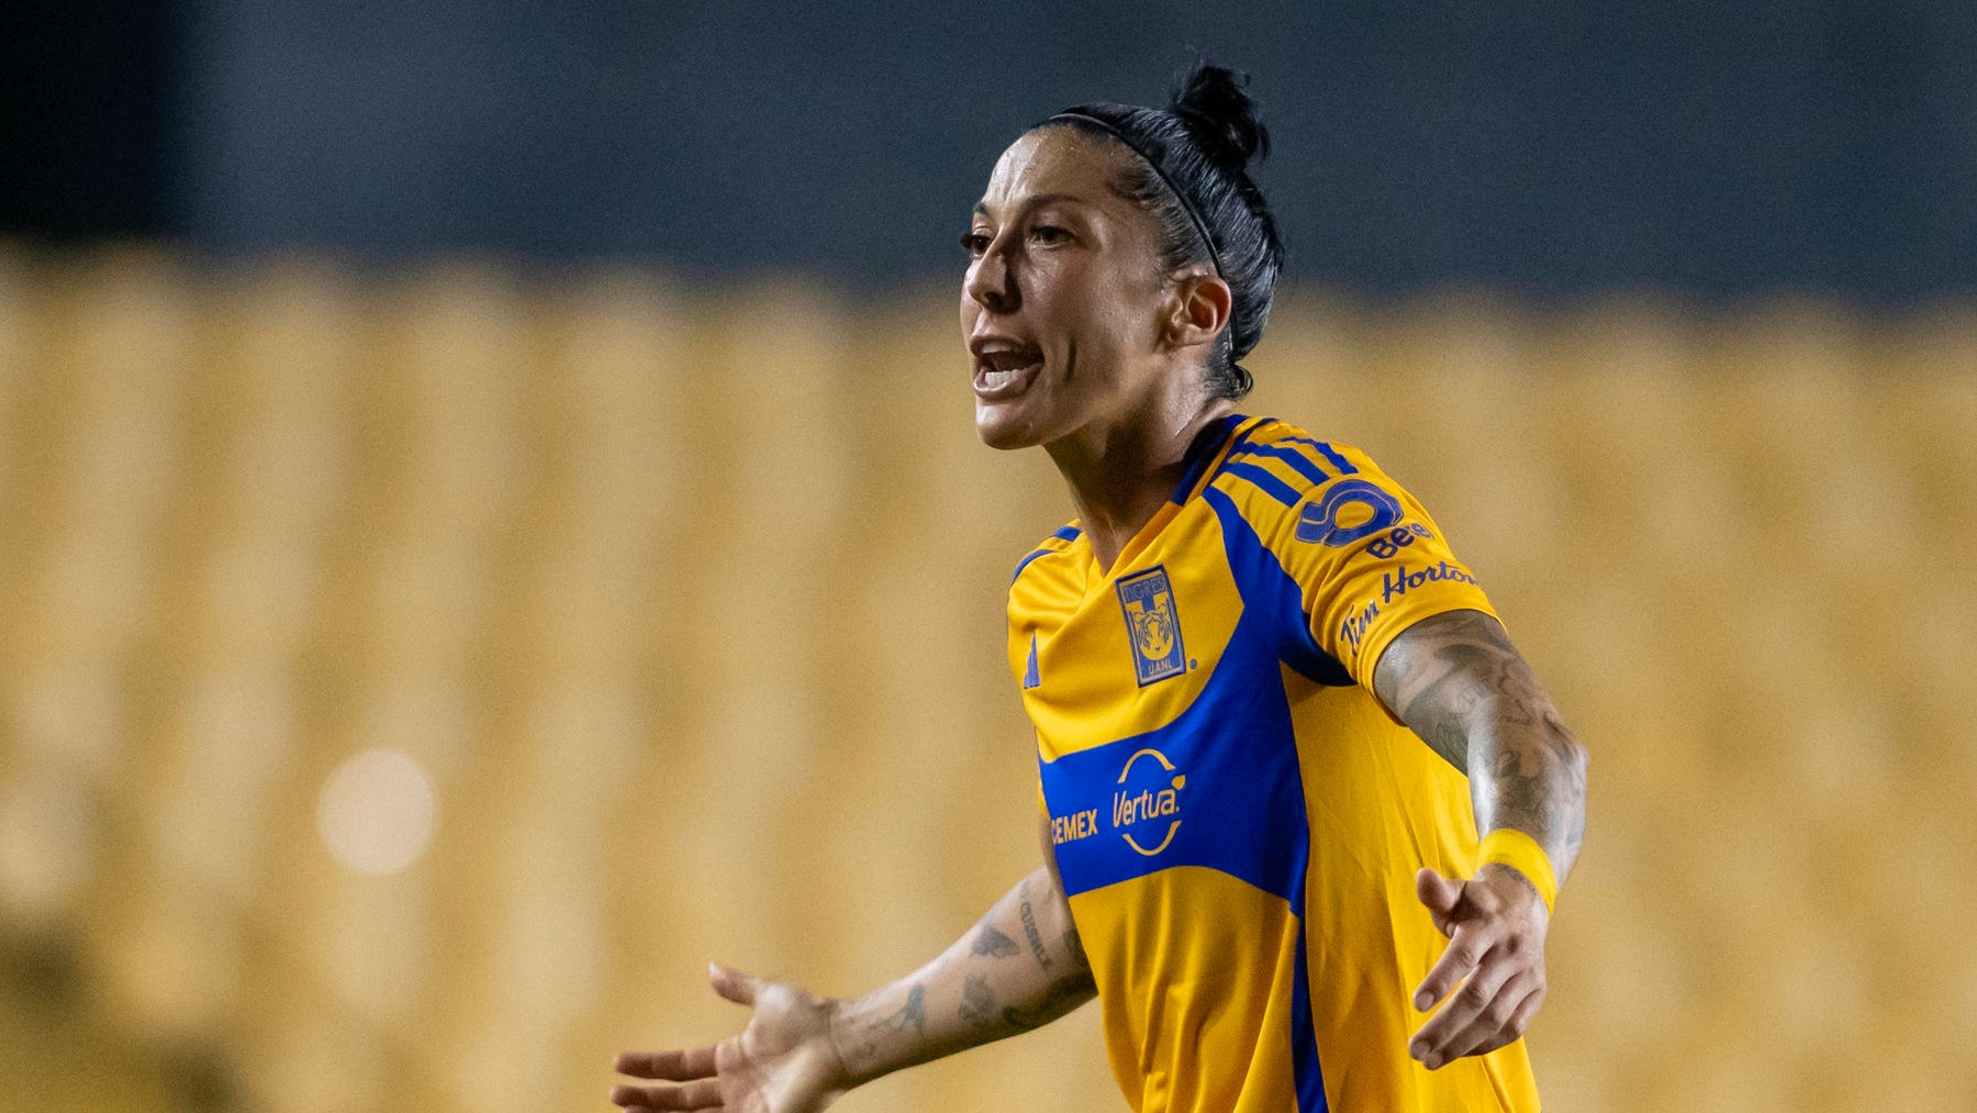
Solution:
[{"label": "yellow jersey sleeve with blue stripes and Tim Hortons lettering", "polygon": [[1441,528],[1364,453],[1325,447],[1334,465],[1277,530],[1319,648],[1372,688],[1380,654],[1408,627],[1445,611],[1495,617]]}]

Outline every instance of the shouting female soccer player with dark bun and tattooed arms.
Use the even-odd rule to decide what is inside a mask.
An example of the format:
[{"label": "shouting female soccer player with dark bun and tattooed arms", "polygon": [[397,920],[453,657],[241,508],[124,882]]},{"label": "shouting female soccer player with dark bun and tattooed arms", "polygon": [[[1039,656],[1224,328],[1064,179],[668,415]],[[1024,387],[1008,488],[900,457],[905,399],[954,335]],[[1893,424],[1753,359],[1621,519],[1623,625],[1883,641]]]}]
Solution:
[{"label": "shouting female soccer player with dark bun and tattooed arms", "polygon": [[1586,751],[1419,502],[1244,417],[1283,249],[1242,79],[1024,132],[963,237],[975,421],[1077,518],[1016,567],[1044,864],[862,998],[627,1054],[627,1109],[809,1113],[1099,998],[1141,1113],[1536,1109],[1520,1040]]}]

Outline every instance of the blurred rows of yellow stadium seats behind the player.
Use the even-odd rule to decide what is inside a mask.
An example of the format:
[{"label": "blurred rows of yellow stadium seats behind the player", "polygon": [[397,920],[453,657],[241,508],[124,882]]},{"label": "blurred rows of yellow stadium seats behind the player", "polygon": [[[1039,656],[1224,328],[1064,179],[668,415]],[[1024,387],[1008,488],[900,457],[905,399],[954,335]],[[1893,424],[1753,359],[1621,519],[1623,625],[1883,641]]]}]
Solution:
[{"label": "blurred rows of yellow stadium seats behind the player", "polygon": [[[0,253],[0,1111],[601,1109],[735,1024],[706,959],[848,992],[973,923],[1068,510],[949,302]],[[1977,312],[1313,295],[1251,368],[1595,753],[1548,1105],[1965,1105]],[[382,876],[318,814],[368,749],[437,807]],[[1079,1014],[844,1107],[1123,1103]]]}]

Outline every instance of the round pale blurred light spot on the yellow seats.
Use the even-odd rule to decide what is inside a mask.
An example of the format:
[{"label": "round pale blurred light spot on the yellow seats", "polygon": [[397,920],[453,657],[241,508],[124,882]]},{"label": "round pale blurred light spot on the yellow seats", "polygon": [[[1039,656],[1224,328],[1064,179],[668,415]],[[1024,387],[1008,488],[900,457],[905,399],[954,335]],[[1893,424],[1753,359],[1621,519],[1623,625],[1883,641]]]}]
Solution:
[{"label": "round pale blurred light spot on the yellow seats", "polygon": [[366,749],[322,785],[316,828],[344,866],[395,874],[417,862],[433,838],[433,785],[403,753]]}]

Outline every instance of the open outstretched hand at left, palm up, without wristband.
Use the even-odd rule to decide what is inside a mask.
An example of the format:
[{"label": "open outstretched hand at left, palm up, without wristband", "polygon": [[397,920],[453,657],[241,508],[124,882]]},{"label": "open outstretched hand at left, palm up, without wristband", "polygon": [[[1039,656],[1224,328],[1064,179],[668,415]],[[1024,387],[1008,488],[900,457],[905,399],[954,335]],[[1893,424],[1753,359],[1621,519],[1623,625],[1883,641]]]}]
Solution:
[{"label": "open outstretched hand at left, palm up, without wristband", "polygon": [[619,1073],[660,1085],[613,1087],[615,1105],[627,1113],[815,1113],[850,1087],[830,1038],[834,1002],[718,965],[708,967],[708,979],[714,992],[755,1010],[747,1028],[712,1048],[625,1052]]}]

